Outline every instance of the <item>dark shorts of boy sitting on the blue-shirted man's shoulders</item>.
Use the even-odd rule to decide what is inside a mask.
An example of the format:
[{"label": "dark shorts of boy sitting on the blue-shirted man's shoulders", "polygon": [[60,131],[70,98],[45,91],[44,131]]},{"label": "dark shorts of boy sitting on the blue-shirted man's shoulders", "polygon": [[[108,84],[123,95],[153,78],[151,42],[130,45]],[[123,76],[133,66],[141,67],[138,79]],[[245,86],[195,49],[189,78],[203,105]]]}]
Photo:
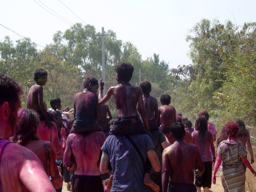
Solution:
[{"label": "dark shorts of boy sitting on the blue-shirted man's shoulders", "polygon": [[137,135],[148,134],[146,128],[140,121],[139,115],[119,116],[116,115],[114,124],[110,129],[109,135]]}]

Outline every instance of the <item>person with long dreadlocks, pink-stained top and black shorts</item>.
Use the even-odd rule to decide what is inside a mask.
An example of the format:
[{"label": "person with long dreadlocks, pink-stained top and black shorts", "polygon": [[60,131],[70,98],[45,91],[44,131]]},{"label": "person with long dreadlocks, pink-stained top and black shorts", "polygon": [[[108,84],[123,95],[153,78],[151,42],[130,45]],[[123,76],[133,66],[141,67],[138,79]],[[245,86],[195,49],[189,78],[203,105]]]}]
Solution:
[{"label": "person with long dreadlocks, pink-stained top and black shorts", "polygon": [[[204,116],[196,118],[195,129],[196,131],[192,132],[192,143],[198,147],[205,168],[201,176],[195,173],[195,186],[197,192],[201,191],[201,187],[203,187],[204,192],[209,192],[209,188],[212,186],[212,163],[215,163],[216,157],[212,133],[207,131],[207,120]],[[210,146],[213,159],[209,151]]]}]

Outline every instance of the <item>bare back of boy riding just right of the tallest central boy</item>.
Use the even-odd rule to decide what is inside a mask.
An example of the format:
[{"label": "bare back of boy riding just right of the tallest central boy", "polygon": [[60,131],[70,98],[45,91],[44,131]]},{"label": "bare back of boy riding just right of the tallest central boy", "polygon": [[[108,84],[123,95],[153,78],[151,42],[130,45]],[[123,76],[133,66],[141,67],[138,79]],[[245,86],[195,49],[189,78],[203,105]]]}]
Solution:
[{"label": "bare back of boy riding just right of the tallest central boy", "polygon": [[158,105],[155,97],[151,95],[143,95],[144,107],[147,111],[148,120],[157,119],[158,116]]}]

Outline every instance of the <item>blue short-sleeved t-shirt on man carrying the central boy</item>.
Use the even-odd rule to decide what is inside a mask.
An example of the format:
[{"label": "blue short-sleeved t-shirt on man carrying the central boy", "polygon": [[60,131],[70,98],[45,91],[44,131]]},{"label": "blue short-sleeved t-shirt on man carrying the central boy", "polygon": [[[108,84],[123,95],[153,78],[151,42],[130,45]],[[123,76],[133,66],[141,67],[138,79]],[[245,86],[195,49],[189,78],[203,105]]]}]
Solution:
[{"label": "blue short-sleeved t-shirt on man carrying the central boy", "polygon": [[[140,148],[146,163],[147,152],[154,149],[150,137],[146,134],[130,137]],[[111,192],[150,191],[150,188],[143,184],[145,168],[141,158],[124,135],[109,135],[101,149],[108,154],[113,169]]]}]

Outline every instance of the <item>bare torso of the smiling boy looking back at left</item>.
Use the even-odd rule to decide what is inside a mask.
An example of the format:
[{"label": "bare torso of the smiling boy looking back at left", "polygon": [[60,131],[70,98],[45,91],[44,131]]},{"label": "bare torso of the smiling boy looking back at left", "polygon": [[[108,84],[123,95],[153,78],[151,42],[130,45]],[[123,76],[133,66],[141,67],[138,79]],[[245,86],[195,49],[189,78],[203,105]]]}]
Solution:
[{"label": "bare torso of the smiling boy looking back at left", "polygon": [[39,102],[43,102],[43,86],[34,84],[31,86],[27,96],[27,108],[38,111],[40,109]]}]

